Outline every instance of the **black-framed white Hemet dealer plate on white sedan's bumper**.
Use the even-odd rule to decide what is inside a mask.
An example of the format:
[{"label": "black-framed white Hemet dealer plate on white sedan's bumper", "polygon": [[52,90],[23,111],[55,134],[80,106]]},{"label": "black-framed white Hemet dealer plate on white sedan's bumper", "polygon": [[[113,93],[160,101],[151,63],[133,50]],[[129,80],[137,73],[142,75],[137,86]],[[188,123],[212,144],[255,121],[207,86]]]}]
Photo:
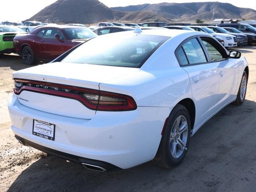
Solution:
[{"label": "black-framed white Hemet dealer plate on white sedan's bumper", "polygon": [[52,123],[33,119],[32,133],[36,136],[54,141],[55,125]]}]

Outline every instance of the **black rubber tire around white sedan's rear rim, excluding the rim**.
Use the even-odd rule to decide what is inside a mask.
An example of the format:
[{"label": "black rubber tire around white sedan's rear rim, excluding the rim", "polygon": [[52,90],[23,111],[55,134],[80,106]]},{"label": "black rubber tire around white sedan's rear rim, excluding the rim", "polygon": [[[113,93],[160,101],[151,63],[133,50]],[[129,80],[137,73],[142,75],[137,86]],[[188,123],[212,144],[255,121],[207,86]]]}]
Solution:
[{"label": "black rubber tire around white sedan's rear rim, excluding the rim", "polygon": [[[188,128],[187,128],[186,144],[184,145],[185,146],[184,150],[183,152],[180,152],[180,156],[178,158],[174,158],[171,153],[172,143],[170,142],[170,139],[171,139],[171,133],[174,127],[174,123],[179,116],[183,116],[184,118],[186,118]],[[179,125],[180,125],[180,122],[179,122]],[[172,112],[170,113],[170,116],[168,117],[168,121],[164,128],[164,133],[162,135],[162,139],[158,147],[158,151],[153,161],[158,166],[161,166],[163,168],[172,168],[180,164],[184,159],[184,157],[186,156],[186,152],[187,152],[189,140],[190,140],[190,129],[191,129],[190,116],[189,116],[188,110],[183,105],[177,104],[173,108]],[[183,136],[184,136],[183,133],[180,134],[180,138],[182,138]],[[177,141],[177,138],[176,138],[176,141]],[[177,146],[175,148],[177,148]]]}]

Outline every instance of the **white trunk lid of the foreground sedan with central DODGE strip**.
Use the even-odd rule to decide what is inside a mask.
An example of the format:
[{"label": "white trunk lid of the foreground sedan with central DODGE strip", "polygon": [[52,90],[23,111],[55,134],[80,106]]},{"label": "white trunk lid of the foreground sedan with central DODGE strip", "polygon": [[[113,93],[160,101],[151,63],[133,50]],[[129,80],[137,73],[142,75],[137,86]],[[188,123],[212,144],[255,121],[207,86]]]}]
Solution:
[{"label": "white trunk lid of the foreground sedan with central DODGE strip", "polygon": [[[96,110],[81,102],[79,97],[83,97],[83,90],[80,88],[97,92],[101,82],[136,70],[139,69],[57,62],[14,72],[13,77],[17,82],[25,83],[26,90],[18,94],[18,100],[24,106],[62,116],[91,119]],[[77,90],[81,92],[75,92]]]}]

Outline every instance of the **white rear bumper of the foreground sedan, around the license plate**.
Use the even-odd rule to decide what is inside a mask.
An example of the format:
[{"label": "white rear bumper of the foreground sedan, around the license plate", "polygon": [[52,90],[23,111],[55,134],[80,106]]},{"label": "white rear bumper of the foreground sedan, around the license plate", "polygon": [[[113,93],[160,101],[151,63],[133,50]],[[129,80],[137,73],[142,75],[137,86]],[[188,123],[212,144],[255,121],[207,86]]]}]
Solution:
[{"label": "white rear bumper of the foreground sedan, around the license plate", "polygon": [[[76,156],[72,159],[79,163],[82,161],[78,161],[77,157],[106,162],[122,169],[154,158],[165,119],[172,110],[138,107],[124,112],[97,111],[92,119],[81,119],[26,107],[20,104],[15,94],[8,101],[8,109],[14,134],[43,146],[43,151],[47,148]],[[55,140],[33,135],[33,119],[55,124]],[[63,158],[66,157],[63,155]]]}]

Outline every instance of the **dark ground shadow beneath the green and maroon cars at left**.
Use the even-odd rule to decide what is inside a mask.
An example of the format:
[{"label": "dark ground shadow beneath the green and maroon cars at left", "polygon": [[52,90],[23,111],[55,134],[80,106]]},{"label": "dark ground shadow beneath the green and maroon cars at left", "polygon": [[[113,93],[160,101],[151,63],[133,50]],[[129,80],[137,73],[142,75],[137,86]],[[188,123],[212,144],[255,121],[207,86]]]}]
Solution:
[{"label": "dark ground shadow beneath the green and maroon cars at left", "polygon": [[18,71],[32,66],[35,65],[26,65],[17,54],[0,55],[0,67],[10,67],[12,70]]}]

